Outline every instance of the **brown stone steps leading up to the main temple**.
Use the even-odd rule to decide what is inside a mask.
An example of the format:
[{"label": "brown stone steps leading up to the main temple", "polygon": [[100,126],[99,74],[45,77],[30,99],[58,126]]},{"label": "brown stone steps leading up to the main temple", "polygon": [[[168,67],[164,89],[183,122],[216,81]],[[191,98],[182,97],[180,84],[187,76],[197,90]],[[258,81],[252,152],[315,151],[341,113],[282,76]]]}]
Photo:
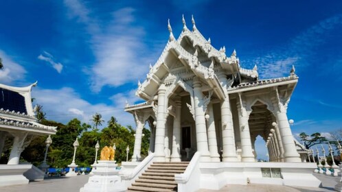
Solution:
[{"label": "brown stone steps leading up to the main temple", "polygon": [[135,182],[128,191],[164,192],[177,191],[174,174],[184,173],[189,162],[155,162]]}]

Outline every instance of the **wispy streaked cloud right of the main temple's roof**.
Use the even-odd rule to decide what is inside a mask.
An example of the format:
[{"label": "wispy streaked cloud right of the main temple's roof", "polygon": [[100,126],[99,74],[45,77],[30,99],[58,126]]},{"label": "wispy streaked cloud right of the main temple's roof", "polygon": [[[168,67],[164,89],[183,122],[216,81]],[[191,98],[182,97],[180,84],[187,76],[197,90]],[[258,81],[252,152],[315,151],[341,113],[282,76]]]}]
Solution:
[{"label": "wispy streaked cloud right of the main temple's roof", "polygon": [[317,59],[317,56],[321,57],[317,47],[326,43],[326,34],[341,24],[342,14],[332,16],[298,34],[284,47],[277,47],[269,53],[242,62],[249,64],[249,67],[258,64],[260,77],[263,78],[287,76],[292,65],[295,65],[298,72]]}]

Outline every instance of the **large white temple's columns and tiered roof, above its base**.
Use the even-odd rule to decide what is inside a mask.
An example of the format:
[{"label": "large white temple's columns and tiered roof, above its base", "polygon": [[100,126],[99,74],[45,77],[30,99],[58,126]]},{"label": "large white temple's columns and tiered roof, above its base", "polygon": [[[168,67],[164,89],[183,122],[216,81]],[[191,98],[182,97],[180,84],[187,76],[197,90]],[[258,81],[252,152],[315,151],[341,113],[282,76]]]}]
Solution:
[{"label": "large white temple's columns and tiered roof, above its base", "polygon": [[133,161],[141,160],[144,125],[151,131],[155,161],[255,162],[255,139],[266,142],[273,162],[301,162],[287,109],[298,82],[294,67],[286,77],[262,80],[258,68],[242,68],[235,50],[216,49],[192,18],[192,30],[170,38],[136,95],[146,102],[126,105],[137,125]]}]

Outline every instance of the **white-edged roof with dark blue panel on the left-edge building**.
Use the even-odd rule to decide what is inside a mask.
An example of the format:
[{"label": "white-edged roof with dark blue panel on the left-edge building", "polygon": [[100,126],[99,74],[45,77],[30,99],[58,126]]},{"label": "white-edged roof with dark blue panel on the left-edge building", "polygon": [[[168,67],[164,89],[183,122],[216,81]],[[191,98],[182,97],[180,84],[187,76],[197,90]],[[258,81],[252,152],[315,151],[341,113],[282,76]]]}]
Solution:
[{"label": "white-edged roof with dark blue panel on the left-edge building", "polygon": [[0,130],[24,130],[36,134],[56,134],[56,127],[37,123],[32,108],[32,87],[0,84]]}]

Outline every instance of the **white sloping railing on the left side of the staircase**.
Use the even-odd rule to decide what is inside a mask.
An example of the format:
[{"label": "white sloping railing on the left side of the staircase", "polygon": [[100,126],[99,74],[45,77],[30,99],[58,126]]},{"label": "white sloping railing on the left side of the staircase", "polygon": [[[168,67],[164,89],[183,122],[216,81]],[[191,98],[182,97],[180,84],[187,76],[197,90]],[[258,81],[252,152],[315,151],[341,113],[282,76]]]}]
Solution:
[{"label": "white sloping railing on the left side of the staircase", "polygon": [[143,173],[148,166],[153,163],[153,158],[155,157],[154,153],[150,153],[137,167],[130,171],[129,173],[120,173],[122,182],[125,184],[126,187],[130,187],[132,183]]}]

